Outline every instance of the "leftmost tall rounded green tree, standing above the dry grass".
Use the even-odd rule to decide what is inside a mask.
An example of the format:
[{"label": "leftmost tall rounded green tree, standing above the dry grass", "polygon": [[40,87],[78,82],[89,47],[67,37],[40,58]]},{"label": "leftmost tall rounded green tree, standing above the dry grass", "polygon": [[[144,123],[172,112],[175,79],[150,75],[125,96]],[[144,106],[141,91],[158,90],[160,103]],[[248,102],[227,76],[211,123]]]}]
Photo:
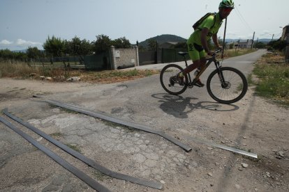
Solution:
[{"label": "leftmost tall rounded green tree, standing above the dry grass", "polygon": [[45,49],[47,54],[59,57],[64,53],[65,41],[61,40],[60,38],[55,38],[54,35],[52,36],[52,38],[48,36],[47,40],[43,45],[43,48]]}]

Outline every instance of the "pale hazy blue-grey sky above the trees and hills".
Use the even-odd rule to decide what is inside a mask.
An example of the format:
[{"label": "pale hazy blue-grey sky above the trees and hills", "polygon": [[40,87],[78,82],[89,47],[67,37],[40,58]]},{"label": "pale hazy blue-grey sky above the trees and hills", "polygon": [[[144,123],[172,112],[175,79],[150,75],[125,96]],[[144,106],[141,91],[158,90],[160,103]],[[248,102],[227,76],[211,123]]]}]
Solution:
[{"label": "pale hazy blue-grey sky above the trees and hills", "polygon": [[[131,44],[156,35],[188,38],[205,13],[218,12],[221,0],[0,0],[0,49],[43,49],[54,35],[89,42],[97,35],[125,37]],[[289,24],[288,0],[235,0],[226,38],[278,39]],[[223,38],[225,22],[218,32]],[[273,36],[274,35],[274,36]]]}]

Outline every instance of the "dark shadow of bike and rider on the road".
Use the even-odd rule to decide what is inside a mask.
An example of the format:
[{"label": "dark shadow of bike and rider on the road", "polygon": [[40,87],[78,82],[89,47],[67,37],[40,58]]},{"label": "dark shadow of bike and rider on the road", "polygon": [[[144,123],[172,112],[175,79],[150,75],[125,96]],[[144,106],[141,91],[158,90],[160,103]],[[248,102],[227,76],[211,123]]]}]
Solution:
[{"label": "dark shadow of bike and rider on the road", "polygon": [[188,118],[188,113],[197,109],[207,109],[209,111],[236,111],[239,106],[234,104],[220,104],[218,102],[198,102],[193,103],[195,97],[182,97],[180,95],[170,95],[166,93],[156,93],[151,95],[156,99],[160,99],[160,108],[163,112],[174,115],[175,118]]}]

